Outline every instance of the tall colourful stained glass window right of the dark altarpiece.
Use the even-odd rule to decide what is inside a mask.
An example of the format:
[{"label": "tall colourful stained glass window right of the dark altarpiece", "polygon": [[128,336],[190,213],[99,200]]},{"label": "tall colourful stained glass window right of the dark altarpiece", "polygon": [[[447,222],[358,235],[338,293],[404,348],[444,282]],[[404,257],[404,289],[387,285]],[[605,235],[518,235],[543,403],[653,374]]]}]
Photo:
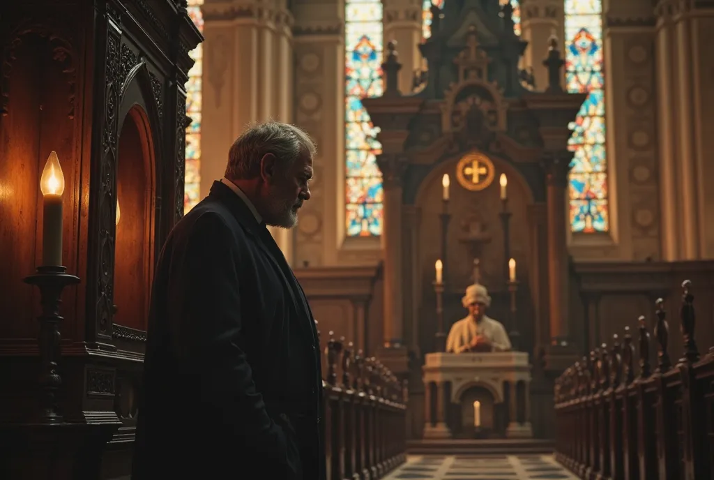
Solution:
[{"label": "tall colourful stained glass window right of the dark altarpiece", "polygon": [[570,125],[570,229],[608,231],[608,164],[605,156],[603,21],[601,0],[565,0],[565,83],[587,93]]}]

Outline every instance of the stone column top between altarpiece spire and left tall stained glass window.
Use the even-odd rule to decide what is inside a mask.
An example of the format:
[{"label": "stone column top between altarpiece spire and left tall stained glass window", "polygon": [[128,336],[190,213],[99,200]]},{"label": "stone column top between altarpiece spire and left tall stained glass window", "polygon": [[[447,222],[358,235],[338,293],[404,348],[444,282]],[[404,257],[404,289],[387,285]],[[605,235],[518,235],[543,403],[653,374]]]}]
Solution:
[{"label": "stone column top between altarpiece spire and left tall stained glass window", "polygon": [[418,44],[422,36],[421,0],[383,0],[384,4],[384,44],[396,41],[399,52],[399,91],[412,91],[412,79],[416,69],[421,67],[421,52]]}]

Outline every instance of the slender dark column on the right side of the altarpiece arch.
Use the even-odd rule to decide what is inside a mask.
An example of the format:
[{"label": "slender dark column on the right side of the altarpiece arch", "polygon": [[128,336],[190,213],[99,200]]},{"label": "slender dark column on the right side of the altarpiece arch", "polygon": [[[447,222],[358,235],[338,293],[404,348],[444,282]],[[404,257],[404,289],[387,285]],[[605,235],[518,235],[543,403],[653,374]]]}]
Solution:
[{"label": "slender dark column on the right side of the altarpiece arch", "polygon": [[548,299],[550,306],[550,342],[568,343],[568,247],[566,245],[568,170],[573,154],[550,151],[545,154],[548,199]]}]

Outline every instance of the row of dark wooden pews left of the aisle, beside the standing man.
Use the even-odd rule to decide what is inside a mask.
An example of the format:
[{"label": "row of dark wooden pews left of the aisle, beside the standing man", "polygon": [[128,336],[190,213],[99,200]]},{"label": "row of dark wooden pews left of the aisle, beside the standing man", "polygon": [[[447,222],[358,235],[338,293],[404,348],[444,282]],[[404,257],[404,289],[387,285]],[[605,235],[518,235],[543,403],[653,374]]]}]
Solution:
[{"label": "row of dark wooden pews left of the aisle, beside the standing man", "polygon": [[379,479],[406,461],[406,381],[333,332],[324,352],[327,480]]}]

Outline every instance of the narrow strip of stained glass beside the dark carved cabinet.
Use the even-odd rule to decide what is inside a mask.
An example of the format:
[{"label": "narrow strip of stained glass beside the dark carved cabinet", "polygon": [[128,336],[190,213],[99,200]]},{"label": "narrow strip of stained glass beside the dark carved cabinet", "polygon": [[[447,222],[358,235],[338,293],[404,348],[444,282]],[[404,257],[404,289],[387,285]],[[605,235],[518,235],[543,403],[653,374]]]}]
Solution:
[{"label": "narrow strip of stained glass beside the dark carved cabinet", "polygon": [[[201,5],[203,0],[188,0],[188,15],[203,32]],[[186,83],[186,114],[191,125],[186,129],[186,181],[183,194],[183,211],[187,212],[198,203],[201,195],[201,76],[203,74],[203,46],[193,49],[191,58],[196,63],[188,71]]]}]

